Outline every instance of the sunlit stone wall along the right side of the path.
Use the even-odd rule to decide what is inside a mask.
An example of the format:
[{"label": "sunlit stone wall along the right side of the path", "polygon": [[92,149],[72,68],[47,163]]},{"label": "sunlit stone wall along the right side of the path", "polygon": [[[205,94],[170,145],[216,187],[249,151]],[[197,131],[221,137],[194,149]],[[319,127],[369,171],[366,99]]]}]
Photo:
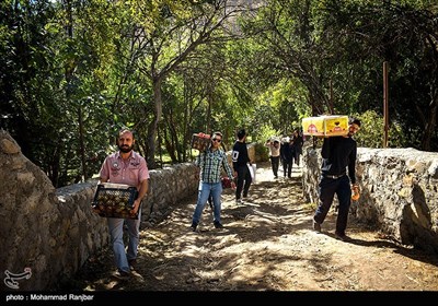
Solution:
[{"label": "sunlit stone wall along the right side of the path", "polygon": [[[303,192],[318,203],[320,150],[304,150]],[[438,254],[438,153],[358,149],[360,199],[350,213],[403,245]]]}]

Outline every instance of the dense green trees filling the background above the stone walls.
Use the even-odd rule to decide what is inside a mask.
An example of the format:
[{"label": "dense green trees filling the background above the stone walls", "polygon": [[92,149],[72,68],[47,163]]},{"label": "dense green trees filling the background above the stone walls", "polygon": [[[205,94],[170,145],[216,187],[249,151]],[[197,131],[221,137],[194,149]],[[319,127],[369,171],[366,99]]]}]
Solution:
[{"label": "dense green trees filling the background above the stone walls", "polygon": [[192,160],[194,132],[252,141],[307,116],[357,116],[382,145],[438,151],[431,0],[4,0],[0,127],[56,187],[99,172],[119,128],[150,168]]}]

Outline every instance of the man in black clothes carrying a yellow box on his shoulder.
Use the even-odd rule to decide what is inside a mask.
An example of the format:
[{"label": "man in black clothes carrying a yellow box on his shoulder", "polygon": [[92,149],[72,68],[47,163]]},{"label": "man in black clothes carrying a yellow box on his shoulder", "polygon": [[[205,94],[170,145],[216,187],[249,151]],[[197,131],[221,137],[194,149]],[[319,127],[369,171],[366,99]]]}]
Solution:
[{"label": "man in black clothes carrying a yellow box on his shoulder", "polygon": [[[353,136],[360,129],[360,120],[349,120],[348,134],[324,138],[321,149],[322,165],[319,187],[320,203],[313,216],[313,229],[321,232],[321,224],[332,207],[336,193],[339,202],[336,219],[336,238],[346,240],[348,210],[351,203],[351,188],[356,188],[357,143]],[[346,169],[348,168],[348,176]]]}]

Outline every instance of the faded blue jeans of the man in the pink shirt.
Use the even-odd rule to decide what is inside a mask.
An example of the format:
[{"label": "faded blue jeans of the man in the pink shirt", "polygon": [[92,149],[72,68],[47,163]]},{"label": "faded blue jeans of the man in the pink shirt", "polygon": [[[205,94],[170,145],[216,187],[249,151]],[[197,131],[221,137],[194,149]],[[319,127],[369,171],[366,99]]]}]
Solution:
[{"label": "faded blue jeans of the man in the pink shirt", "polygon": [[[113,245],[114,260],[119,270],[129,272],[128,260],[137,258],[138,243],[140,237],[141,208],[138,210],[138,219],[108,217],[108,229]],[[128,227],[128,249],[125,251],[123,239],[124,223]]]}]

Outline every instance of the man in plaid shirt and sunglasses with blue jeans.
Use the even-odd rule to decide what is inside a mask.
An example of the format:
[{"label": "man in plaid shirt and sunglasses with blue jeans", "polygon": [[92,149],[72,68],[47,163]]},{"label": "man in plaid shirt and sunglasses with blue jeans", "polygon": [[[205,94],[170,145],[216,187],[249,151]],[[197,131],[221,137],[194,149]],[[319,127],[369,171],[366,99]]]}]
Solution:
[{"label": "man in plaid shirt and sunglasses with blue jeans", "polygon": [[[214,132],[210,139],[211,142],[208,149],[199,153],[195,161],[195,165],[199,167],[199,187],[198,199],[192,217],[191,228],[193,232],[196,231],[199,224],[200,216],[210,195],[212,197],[212,221],[215,228],[223,227],[220,220],[220,197],[222,195],[221,169],[223,168],[228,177],[233,180],[233,173],[228,164],[227,154],[224,151],[220,150],[222,133],[219,131]],[[231,183],[231,187],[234,188],[233,181]]]}]

